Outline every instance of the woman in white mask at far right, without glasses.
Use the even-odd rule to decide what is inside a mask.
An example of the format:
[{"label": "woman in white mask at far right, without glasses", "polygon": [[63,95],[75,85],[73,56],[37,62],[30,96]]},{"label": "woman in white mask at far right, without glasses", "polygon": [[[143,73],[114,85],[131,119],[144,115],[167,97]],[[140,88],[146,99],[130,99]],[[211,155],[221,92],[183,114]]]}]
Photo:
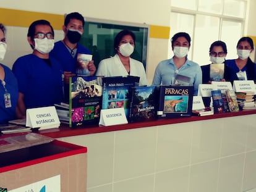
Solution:
[{"label": "woman in white mask at far right, without glasses", "polygon": [[254,41],[249,36],[242,37],[237,42],[237,59],[229,59],[226,64],[234,69],[239,80],[254,80],[256,83],[255,63],[250,59],[254,51]]}]

